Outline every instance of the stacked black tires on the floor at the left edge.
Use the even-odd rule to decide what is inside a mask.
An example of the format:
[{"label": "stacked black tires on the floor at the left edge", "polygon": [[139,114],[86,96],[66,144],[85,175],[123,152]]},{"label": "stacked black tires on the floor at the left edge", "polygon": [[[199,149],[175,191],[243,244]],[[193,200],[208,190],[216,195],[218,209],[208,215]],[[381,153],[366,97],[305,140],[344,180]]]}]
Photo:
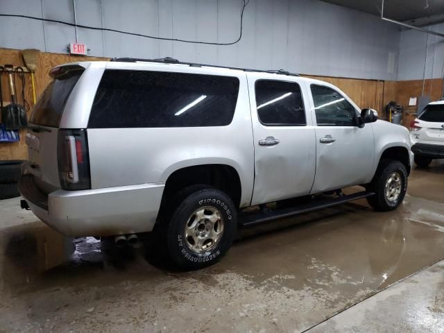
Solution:
[{"label": "stacked black tires on the floor at the left edge", "polygon": [[20,196],[17,182],[22,174],[22,160],[0,161],[0,200]]}]

